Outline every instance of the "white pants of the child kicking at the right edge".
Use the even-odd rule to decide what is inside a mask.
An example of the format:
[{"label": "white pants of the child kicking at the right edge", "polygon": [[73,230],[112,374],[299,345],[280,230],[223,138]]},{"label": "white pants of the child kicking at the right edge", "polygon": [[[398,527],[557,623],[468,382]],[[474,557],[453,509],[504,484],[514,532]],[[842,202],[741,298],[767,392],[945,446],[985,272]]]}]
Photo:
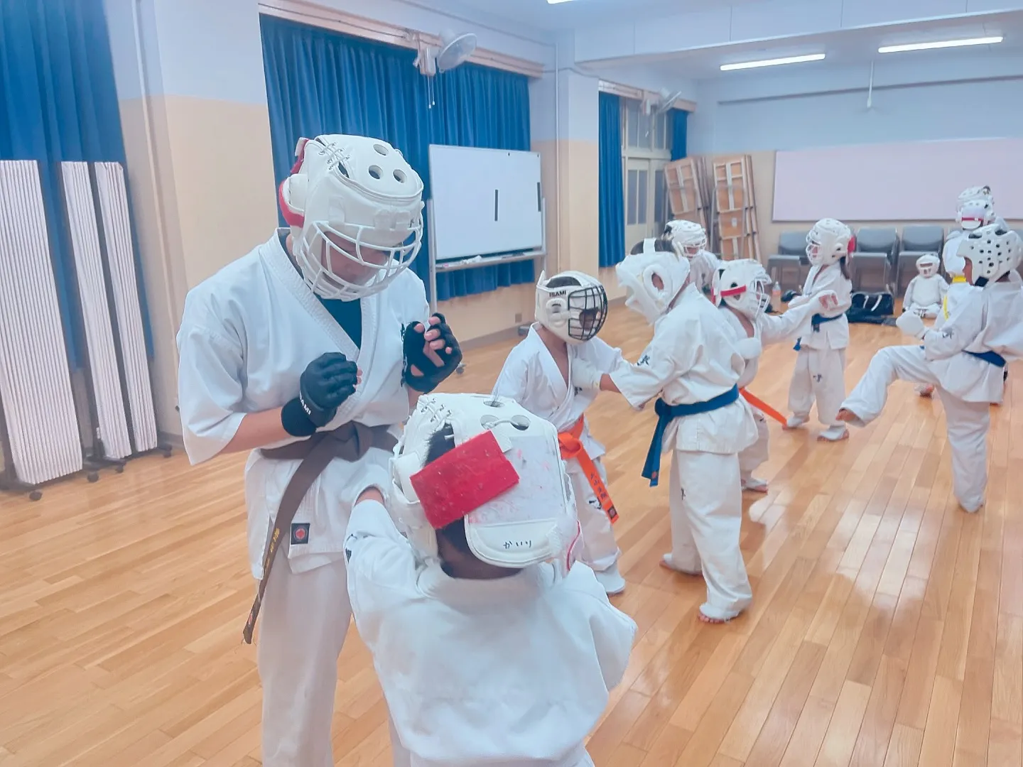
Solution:
[{"label": "white pants of the child kicking at the right edge", "polygon": [[881,414],[888,387],[897,378],[935,387],[945,409],[948,446],[952,454],[952,488],[955,498],[968,510],[984,502],[987,488],[987,430],[991,418],[986,402],[965,402],[938,382],[924,350],[918,346],[886,347],[880,350],[863,377],[842,404],[864,423]]}]

